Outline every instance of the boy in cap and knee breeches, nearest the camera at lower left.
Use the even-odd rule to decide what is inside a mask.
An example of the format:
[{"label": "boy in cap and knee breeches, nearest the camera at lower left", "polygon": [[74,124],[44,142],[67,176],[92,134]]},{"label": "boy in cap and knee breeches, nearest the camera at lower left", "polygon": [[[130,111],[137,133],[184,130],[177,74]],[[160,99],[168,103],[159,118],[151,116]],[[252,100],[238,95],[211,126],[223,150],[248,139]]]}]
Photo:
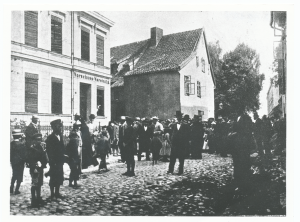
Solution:
[{"label": "boy in cap and knee breeches, nearest the camera at lower left", "polygon": [[29,166],[31,176],[31,206],[37,207],[42,204],[43,200],[40,196],[40,188],[43,184],[43,169],[46,168],[48,162],[47,154],[41,147],[42,135],[36,133],[32,136],[32,145],[27,150],[26,162]]}]

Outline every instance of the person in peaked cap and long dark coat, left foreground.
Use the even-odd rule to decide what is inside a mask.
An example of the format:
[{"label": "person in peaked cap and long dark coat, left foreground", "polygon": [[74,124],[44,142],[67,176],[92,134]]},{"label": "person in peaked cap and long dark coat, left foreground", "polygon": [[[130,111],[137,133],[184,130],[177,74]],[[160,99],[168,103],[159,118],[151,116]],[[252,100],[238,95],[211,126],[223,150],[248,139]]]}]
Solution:
[{"label": "person in peaked cap and long dark coat, left foreground", "polygon": [[[50,198],[64,198],[59,193],[59,187],[63,184],[63,163],[64,157],[64,144],[62,137],[62,123],[60,119],[55,119],[50,122],[52,133],[46,139],[46,152],[49,158],[49,186],[50,186]],[[55,192],[54,192],[55,188]]]}]

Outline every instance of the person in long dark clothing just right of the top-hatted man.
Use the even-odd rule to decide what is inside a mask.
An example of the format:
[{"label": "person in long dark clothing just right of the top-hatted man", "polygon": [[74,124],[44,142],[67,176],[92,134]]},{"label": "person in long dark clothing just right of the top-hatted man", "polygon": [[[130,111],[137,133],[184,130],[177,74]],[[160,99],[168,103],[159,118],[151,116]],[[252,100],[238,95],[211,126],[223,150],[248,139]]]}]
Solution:
[{"label": "person in long dark clothing just right of the top-hatted man", "polygon": [[202,147],[204,143],[204,125],[202,115],[195,115],[190,128],[191,158],[202,159]]}]

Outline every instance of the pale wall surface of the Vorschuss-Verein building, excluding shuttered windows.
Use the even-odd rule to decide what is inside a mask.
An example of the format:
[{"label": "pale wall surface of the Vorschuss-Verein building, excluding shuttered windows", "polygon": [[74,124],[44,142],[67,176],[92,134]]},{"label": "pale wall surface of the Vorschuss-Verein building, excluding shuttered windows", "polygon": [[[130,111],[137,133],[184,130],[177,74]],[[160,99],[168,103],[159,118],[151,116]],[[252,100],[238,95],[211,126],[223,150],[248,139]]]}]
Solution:
[{"label": "pale wall surface of the Vorschuss-Verein building, excluding shuttered windows", "polygon": [[[51,16],[62,20],[61,54],[51,51]],[[33,47],[25,44],[24,11],[12,11],[10,118],[26,120],[28,124],[32,114],[36,114],[40,124],[49,124],[56,118],[71,124],[73,115],[83,110],[84,118],[88,119],[87,116],[93,113],[96,122],[107,124],[110,120],[111,78],[109,28],[112,25],[112,21],[92,11],[37,11],[37,47]],[[88,60],[81,59],[81,27],[89,30]],[[96,63],[96,34],[104,39],[103,65]],[[28,73],[38,76],[37,112],[25,110],[25,76]],[[53,78],[62,83],[61,113],[51,112]],[[83,97],[80,95],[82,85],[85,88]],[[98,116],[97,89],[104,91],[104,114]],[[84,105],[83,100],[86,100]]]}]

